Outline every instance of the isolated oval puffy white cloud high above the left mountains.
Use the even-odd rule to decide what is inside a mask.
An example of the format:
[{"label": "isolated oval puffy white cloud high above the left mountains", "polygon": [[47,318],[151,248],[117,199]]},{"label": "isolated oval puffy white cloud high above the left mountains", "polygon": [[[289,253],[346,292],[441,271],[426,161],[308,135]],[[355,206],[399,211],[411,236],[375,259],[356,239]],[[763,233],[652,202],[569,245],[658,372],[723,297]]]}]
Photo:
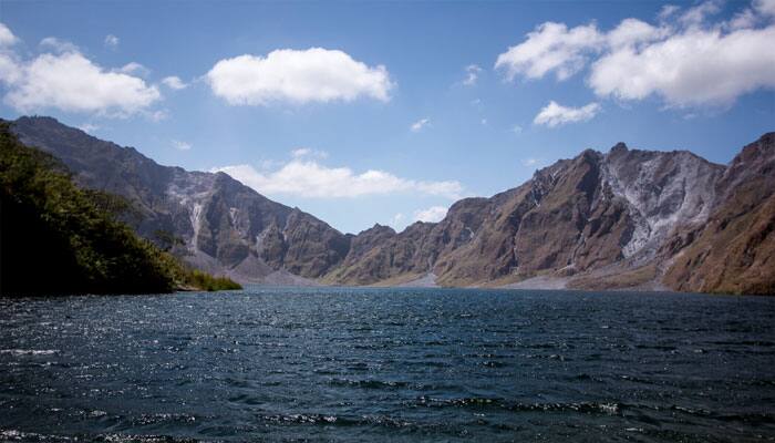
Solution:
[{"label": "isolated oval puffy white cloud high above the left mountains", "polygon": [[393,84],[383,65],[369,66],[338,50],[282,49],[267,56],[220,60],[207,73],[213,92],[232,105],[332,102],[371,97],[386,102]]}]

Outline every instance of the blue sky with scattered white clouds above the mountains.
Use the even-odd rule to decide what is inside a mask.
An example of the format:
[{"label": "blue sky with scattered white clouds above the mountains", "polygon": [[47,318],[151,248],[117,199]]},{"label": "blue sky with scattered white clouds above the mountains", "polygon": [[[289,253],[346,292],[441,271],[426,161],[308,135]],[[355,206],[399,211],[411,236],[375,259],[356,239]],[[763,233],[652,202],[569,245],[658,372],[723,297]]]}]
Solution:
[{"label": "blue sky with scattered white clouds above the mountains", "polygon": [[726,164],[775,131],[773,48],[775,0],[0,0],[0,117],[401,230],[618,142]]}]

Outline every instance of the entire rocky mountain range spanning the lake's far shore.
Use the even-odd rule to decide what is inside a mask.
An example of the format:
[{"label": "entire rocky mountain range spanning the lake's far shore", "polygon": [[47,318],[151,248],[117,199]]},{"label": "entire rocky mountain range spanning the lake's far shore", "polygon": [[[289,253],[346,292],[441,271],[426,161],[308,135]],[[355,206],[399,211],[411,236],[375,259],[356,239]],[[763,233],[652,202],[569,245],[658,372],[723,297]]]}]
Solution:
[{"label": "entire rocky mountain range spanning the lake's far shore", "polygon": [[135,202],[135,229],[242,282],[775,293],[775,133],[727,165],[688,151],[585,151],[440,223],[342,234],[224,173],[161,166],[50,117],[20,141]]}]

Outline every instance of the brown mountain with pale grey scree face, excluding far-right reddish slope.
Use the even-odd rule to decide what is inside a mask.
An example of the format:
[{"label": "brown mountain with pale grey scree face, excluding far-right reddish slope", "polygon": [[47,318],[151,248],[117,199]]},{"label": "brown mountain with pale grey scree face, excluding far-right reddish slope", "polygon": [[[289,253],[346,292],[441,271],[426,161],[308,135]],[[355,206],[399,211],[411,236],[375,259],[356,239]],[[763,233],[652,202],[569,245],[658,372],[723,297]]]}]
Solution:
[{"label": "brown mountain with pale grey scree face, excluding far-right reddish slope", "polygon": [[[608,154],[585,151],[537,171],[519,187],[461,200],[438,224],[361,233],[353,245],[365,243],[368,254],[351,250],[356,259],[345,258],[330,277],[364,285],[431,272],[443,286],[540,277],[579,288],[658,288],[665,259],[660,248],[676,226],[707,219],[723,172],[685,151],[624,144]],[[381,240],[362,239],[378,228]]]}]

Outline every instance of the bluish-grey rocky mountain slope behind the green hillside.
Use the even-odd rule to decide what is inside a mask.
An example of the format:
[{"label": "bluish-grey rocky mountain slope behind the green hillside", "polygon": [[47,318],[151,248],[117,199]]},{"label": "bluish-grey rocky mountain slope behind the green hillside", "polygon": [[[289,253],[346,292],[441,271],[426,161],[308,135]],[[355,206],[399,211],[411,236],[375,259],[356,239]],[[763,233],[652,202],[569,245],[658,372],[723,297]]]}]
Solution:
[{"label": "bluish-grey rocky mountain slope behind the green hillside", "polygon": [[159,230],[172,233],[184,243],[175,253],[211,272],[241,281],[265,281],[279,270],[312,279],[350,249],[349,236],[224,173],[162,166],[53,119],[21,117],[12,130],[22,143],[62,159],[82,186],[134,202],[138,234],[153,240]]}]

